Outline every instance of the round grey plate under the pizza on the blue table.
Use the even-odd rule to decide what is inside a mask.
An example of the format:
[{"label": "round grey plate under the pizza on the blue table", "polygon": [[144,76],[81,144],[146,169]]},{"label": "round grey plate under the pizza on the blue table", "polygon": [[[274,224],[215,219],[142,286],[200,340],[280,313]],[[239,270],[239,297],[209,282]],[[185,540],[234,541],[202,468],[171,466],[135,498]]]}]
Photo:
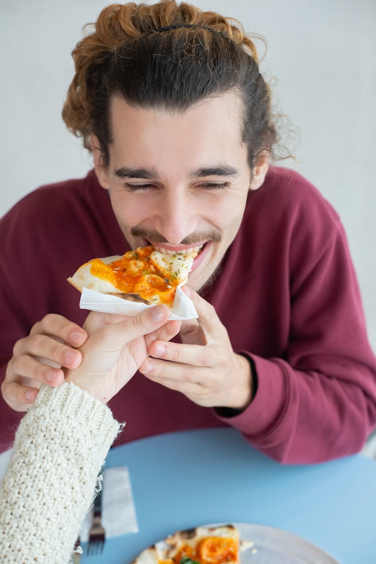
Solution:
[{"label": "round grey plate under the pizza on the blue table", "polygon": [[[228,523],[210,523],[217,527]],[[240,553],[241,564],[339,564],[316,545],[281,529],[251,523],[232,523],[241,540],[254,543]],[[163,541],[157,543],[163,547]]]}]

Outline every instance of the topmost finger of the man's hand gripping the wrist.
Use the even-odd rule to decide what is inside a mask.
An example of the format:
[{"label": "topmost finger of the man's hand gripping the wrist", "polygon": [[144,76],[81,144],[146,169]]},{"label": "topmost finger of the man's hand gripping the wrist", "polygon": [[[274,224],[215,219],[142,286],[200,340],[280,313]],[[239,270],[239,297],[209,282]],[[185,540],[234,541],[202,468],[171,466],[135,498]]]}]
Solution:
[{"label": "topmost finger of the man's hand gripping the wrist", "polygon": [[30,335],[38,333],[59,338],[72,347],[80,347],[87,339],[87,333],[82,327],[57,314],[48,314],[33,325]]}]

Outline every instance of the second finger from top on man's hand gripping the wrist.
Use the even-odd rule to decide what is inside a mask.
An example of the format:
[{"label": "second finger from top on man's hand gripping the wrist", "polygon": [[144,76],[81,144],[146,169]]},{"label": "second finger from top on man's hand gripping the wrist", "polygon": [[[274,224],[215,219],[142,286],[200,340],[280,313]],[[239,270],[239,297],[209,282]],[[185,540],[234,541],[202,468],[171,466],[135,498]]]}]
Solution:
[{"label": "second finger from top on man's hand gripping the wrist", "polygon": [[81,352],[44,334],[20,339],[14,346],[13,354],[15,358],[21,355],[39,356],[65,368],[77,368],[82,360]]}]

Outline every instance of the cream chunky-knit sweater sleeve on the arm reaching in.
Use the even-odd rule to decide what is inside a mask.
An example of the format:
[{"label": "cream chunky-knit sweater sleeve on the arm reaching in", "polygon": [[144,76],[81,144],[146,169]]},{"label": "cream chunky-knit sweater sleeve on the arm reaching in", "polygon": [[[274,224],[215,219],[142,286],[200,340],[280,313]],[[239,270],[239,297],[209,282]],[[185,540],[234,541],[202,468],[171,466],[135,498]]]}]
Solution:
[{"label": "cream chunky-knit sweater sleeve on the arm reaching in", "polygon": [[1,562],[69,562],[119,429],[110,409],[81,388],[42,385],[0,484]]}]

